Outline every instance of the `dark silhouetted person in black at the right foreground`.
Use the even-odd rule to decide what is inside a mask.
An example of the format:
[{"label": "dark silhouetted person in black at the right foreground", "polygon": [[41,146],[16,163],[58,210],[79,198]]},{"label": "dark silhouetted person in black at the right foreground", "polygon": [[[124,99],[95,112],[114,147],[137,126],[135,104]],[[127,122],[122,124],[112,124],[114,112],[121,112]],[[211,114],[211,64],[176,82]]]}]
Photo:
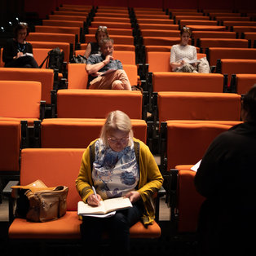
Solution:
[{"label": "dark silhouetted person in black at the right foreground", "polygon": [[256,255],[256,84],[242,100],[241,117],[214,139],[196,172],[196,190],[206,197],[200,255]]}]

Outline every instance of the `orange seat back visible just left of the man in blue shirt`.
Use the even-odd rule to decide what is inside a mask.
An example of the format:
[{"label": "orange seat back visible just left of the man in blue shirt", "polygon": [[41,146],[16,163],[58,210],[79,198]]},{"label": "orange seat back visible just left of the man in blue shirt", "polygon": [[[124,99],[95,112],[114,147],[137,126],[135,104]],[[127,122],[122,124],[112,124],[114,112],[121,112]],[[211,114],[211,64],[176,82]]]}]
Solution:
[{"label": "orange seat back visible just left of the man in blue shirt", "polygon": [[68,89],[86,89],[87,82],[86,64],[68,63]]}]

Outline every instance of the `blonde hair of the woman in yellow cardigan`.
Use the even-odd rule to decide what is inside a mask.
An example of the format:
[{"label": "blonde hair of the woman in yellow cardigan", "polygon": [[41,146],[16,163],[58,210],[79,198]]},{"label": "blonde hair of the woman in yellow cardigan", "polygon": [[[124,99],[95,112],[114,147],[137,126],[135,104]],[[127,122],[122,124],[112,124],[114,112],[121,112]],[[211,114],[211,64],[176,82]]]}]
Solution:
[{"label": "blonde hair of the woman in yellow cardigan", "polygon": [[106,118],[104,126],[101,129],[100,139],[103,140],[105,145],[108,145],[107,134],[109,130],[121,130],[129,133],[131,138],[134,136],[130,117],[128,117],[126,113],[123,113],[120,110],[115,110],[111,113],[108,113],[108,117]]}]

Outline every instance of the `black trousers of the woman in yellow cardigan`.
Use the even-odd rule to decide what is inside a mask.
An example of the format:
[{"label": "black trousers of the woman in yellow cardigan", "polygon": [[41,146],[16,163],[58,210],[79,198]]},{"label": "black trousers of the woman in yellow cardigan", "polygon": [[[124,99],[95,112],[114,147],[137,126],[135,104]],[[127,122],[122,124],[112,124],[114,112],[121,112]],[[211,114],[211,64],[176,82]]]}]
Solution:
[{"label": "black trousers of the woman in yellow cardigan", "polygon": [[82,245],[87,252],[89,249],[95,255],[102,255],[100,246],[107,232],[109,252],[104,255],[130,255],[130,227],[137,223],[143,214],[143,202],[136,202],[132,208],[118,210],[109,218],[83,217],[80,227]]}]

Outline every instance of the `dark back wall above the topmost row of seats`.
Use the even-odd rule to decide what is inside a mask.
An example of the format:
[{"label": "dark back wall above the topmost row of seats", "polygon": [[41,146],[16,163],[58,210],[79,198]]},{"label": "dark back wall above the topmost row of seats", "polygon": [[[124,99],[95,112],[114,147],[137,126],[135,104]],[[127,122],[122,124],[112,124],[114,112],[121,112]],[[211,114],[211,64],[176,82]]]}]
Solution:
[{"label": "dark back wall above the topmost row of seats", "polygon": [[72,3],[93,6],[116,7],[157,7],[157,8],[196,8],[196,9],[232,9],[255,10],[256,2],[251,0],[1,0],[1,20],[7,20],[15,15],[21,18],[37,16],[45,19],[47,14],[60,7],[62,3]]}]

